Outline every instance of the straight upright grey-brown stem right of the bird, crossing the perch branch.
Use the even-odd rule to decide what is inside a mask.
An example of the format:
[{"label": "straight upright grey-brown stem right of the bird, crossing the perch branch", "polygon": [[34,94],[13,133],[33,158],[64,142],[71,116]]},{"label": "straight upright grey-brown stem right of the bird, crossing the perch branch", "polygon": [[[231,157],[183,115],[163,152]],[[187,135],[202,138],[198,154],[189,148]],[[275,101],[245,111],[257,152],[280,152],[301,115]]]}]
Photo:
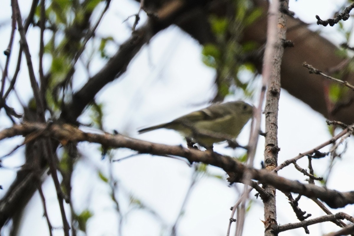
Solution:
[{"label": "straight upright grey-brown stem right of the bird, crossing the perch branch", "polygon": [[[262,76],[267,81],[267,94],[264,108],[265,114],[265,149],[264,165],[272,171],[278,165],[278,108],[280,96],[280,65],[284,53],[286,38],[286,16],[280,10],[288,9],[287,0],[274,0],[270,3],[268,12],[267,43],[263,58]],[[272,226],[276,221],[275,188],[263,186],[269,194],[264,203],[264,235],[273,236]]]}]

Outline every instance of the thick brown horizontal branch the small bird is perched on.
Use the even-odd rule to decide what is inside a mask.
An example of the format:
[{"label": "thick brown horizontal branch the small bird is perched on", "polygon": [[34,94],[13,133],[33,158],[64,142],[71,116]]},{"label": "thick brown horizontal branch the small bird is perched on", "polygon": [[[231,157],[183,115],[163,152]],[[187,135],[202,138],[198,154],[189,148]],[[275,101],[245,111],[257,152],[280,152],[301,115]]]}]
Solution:
[{"label": "thick brown horizontal branch the small bird is perched on", "polygon": [[45,123],[22,123],[0,131],[0,140],[14,136],[27,136],[33,134],[40,137],[51,137],[59,140],[63,145],[69,142],[99,143],[111,148],[129,148],[139,153],[152,155],[175,155],[184,157],[190,163],[203,162],[222,168],[227,173],[232,173],[236,181],[242,182],[244,176],[258,180],[261,184],[269,184],[281,191],[295,192],[309,198],[319,198],[332,208],[344,207],[354,204],[354,191],[339,192],[314,184],[302,184],[298,181],[289,180],[271,173],[265,169],[246,167],[236,159],[220,155],[212,151],[188,149],[182,146],[151,143],[120,134],[87,133],[72,125],[45,124]]}]

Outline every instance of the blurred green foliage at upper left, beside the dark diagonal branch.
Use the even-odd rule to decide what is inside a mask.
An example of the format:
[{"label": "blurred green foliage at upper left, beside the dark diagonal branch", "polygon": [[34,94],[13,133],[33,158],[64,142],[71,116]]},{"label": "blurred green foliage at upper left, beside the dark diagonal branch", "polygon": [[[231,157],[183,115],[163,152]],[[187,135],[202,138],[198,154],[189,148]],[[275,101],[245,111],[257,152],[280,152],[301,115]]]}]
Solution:
[{"label": "blurred green foliage at upper left, beside the dark diagonal branch", "polygon": [[[64,99],[70,100],[72,92],[72,77],[75,73],[75,63],[80,56],[85,40],[92,36],[99,46],[85,47],[85,53],[98,54],[103,59],[109,59],[105,48],[107,42],[113,41],[112,36],[100,39],[90,35],[93,23],[92,13],[104,0],[52,0],[46,2],[45,9],[45,45],[44,58],[50,61],[50,68],[45,73],[47,107],[57,114],[61,110]],[[40,5],[35,11],[35,25],[42,21]],[[95,23],[95,22],[94,22]],[[97,39],[97,40],[96,40]],[[90,52],[91,50],[91,52]],[[87,58],[87,68],[92,59]],[[84,62],[84,61],[83,61]]]}]

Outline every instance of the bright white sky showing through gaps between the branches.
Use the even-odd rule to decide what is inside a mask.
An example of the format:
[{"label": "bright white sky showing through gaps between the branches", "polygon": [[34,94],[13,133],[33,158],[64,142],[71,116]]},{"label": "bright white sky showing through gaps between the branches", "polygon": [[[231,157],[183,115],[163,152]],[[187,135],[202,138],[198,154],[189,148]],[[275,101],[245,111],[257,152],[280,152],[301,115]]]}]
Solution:
[{"label": "bright white sky showing through gaps between the branches", "polygon": [[[29,10],[30,1],[20,0],[22,15]],[[315,23],[315,15],[321,19],[333,16],[344,1],[291,1],[290,10],[296,12],[296,16],[308,22]],[[26,6],[27,4],[27,6]],[[11,14],[10,1],[6,1],[5,6],[0,9],[0,22],[9,19]],[[102,5],[103,6],[103,5]],[[119,43],[124,42],[129,37],[131,30],[129,24],[122,23],[128,16],[137,12],[139,5],[131,0],[112,0],[109,12],[103,18],[98,28],[98,35],[110,36],[113,34]],[[96,12],[98,15],[99,12]],[[142,21],[145,17],[142,17]],[[114,22],[112,24],[112,22]],[[344,39],[333,34],[334,28],[318,27],[312,25],[312,29],[321,28],[325,30],[325,36],[335,43],[341,43]],[[10,25],[6,24],[0,28],[1,45],[4,50],[8,44]],[[331,32],[331,34],[329,34]],[[333,35],[333,36],[332,36]],[[36,55],[38,53],[39,30],[29,30],[27,34],[31,44],[32,59],[35,68],[38,68]],[[12,77],[18,50],[18,35],[12,54],[12,64],[10,65],[10,76]],[[116,46],[112,44],[111,51],[114,53]],[[1,51],[0,50],[0,51]],[[23,57],[24,58],[24,57]],[[4,65],[5,56],[0,56],[1,65]],[[100,59],[91,63],[90,74],[94,74],[104,64]],[[47,64],[49,65],[49,64]],[[21,91],[22,100],[27,103],[32,91],[27,77],[25,63],[22,63],[22,74],[16,84],[17,91]],[[74,84],[80,88],[85,82],[86,73],[84,70],[77,70]],[[211,89],[214,78],[214,71],[207,68],[201,62],[201,46],[191,39],[177,27],[170,27],[153,38],[148,46],[145,46],[137,57],[129,65],[127,73],[118,81],[114,81],[106,86],[96,97],[97,102],[104,104],[104,128],[105,131],[112,132],[113,129],[127,134],[131,137],[141,138],[152,142],[185,145],[184,139],[174,131],[158,130],[142,135],[137,134],[137,129],[149,125],[155,125],[175,119],[178,116],[190,111],[206,107],[206,101],[212,97]],[[322,78],[318,78],[319,80]],[[258,96],[255,96],[258,98]],[[233,99],[233,98],[229,98]],[[235,97],[234,99],[239,99]],[[10,104],[21,112],[15,98],[10,98]],[[255,101],[249,101],[257,103]],[[2,116],[1,116],[2,115]],[[88,121],[87,113],[80,117],[80,121]],[[4,111],[0,113],[0,128],[5,128],[11,124],[3,118]],[[94,129],[85,129],[93,132]],[[248,141],[249,125],[241,133],[238,141],[246,144]],[[299,100],[291,97],[282,90],[279,107],[279,152],[278,163],[296,156],[299,152],[304,152],[314,148],[320,143],[329,139],[325,119],[315,113]],[[1,142],[0,155],[6,154],[19,140],[7,140]],[[16,144],[14,144],[16,143]],[[334,172],[328,183],[329,188],[341,191],[353,190],[350,181],[354,165],[350,153],[353,152],[353,140],[349,140],[347,154],[342,160],[337,160]],[[255,166],[260,168],[263,160],[264,139],[259,140],[258,152]],[[234,151],[223,148],[223,144],[216,147],[218,152],[233,155]],[[83,211],[87,205],[95,214],[87,225],[89,235],[118,235],[118,216],[114,210],[114,204],[110,200],[110,188],[103,183],[97,174],[97,170],[102,171],[105,176],[109,176],[108,158],[101,160],[101,153],[98,145],[88,143],[79,144],[83,154],[82,160],[77,165],[73,176],[73,202],[77,213]],[[23,162],[23,148],[19,149],[13,156],[4,160],[7,167],[15,167]],[[115,158],[128,156],[134,152],[119,149],[115,152]],[[307,167],[307,161],[298,162],[303,168]],[[321,175],[328,166],[328,157],[322,160],[314,160],[313,166],[316,173]],[[148,207],[154,209],[167,226],[171,226],[180,210],[185,192],[190,184],[192,168],[184,161],[167,159],[166,157],[140,155],[130,159],[116,162],[113,165],[115,178],[119,181],[119,200],[122,212],[128,211],[128,200],[124,192],[131,192],[142,200]],[[219,168],[210,167],[210,172],[225,176]],[[0,169],[1,185],[6,190],[11,179],[16,176],[16,168]],[[279,172],[279,175],[290,179],[304,180],[306,177],[294,171],[292,166],[286,167]],[[344,180],[344,181],[343,181]],[[51,178],[44,183],[45,196],[50,212],[53,226],[61,226],[61,218],[57,207],[55,188]],[[179,235],[204,235],[215,236],[225,235],[228,219],[230,218],[230,206],[232,206],[239,196],[241,185],[228,187],[225,179],[219,180],[210,177],[201,177],[195,186],[192,195],[187,203],[187,210],[178,227]],[[4,190],[2,190],[4,191]],[[251,199],[255,192],[252,191]],[[1,194],[1,192],[0,192]],[[2,194],[1,194],[2,195]],[[302,210],[311,213],[312,217],[322,215],[320,209],[312,201],[303,197],[300,201]],[[287,224],[298,222],[295,213],[292,212],[286,197],[277,192],[278,201],[278,223]],[[21,235],[47,235],[47,225],[42,217],[42,207],[38,194],[32,198],[28,211],[23,222]],[[69,208],[67,208],[68,212]],[[354,208],[348,206],[345,209],[333,210],[333,212],[344,211],[353,215]],[[248,216],[246,217],[244,235],[262,235],[263,227],[263,204],[260,199],[255,200]],[[34,226],[35,225],[35,226]],[[37,227],[38,225],[38,227]],[[144,210],[134,210],[124,220],[123,235],[146,235],[153,236],[160,234],[160,221],[156,220]],[[322,228],[322,229],[321,229]],[[321,235],[323,232],[338,230],[332,223],[309,226],[311,235]],[[2,231],[2,235],[7,234],[7,229]],[[167,231],[168,232],[168,231]],[[55,235],[62,235],[62,230],[54,230]],[[297,229],[281,233],[281,235],[303,235],[303,229]]]}]

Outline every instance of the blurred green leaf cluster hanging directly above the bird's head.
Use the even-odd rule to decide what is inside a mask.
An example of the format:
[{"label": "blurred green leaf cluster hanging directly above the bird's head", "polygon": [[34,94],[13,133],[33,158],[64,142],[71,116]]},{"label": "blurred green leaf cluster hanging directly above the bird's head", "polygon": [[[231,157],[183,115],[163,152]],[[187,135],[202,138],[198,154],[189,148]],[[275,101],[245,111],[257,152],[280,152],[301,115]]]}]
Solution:
[{"label": "blurred green leaf cluster hanging directly above the bird's head", "polygon": [[[261,8],[255,8],[251,2],[233,1],[232,16],[210,16],[209,22],[215,36],[215,44],[206,44],[202,49],[202,61],[205,65],[216,69],[218,93],[222,97],[235,93],[237,88],[244,92],[244,96],[252,96],[252,79],[255,76],[241,78],[243,72],[256,72],[255,67],[246,62],[247,53],[257,47],[255,42],[240,44],[241,32],[261,16]],[[245,77],[245,76],[243,76]],[[245,81],[246,80],[246,81]],[[237,90],[239,91],[239,90]]]}]

